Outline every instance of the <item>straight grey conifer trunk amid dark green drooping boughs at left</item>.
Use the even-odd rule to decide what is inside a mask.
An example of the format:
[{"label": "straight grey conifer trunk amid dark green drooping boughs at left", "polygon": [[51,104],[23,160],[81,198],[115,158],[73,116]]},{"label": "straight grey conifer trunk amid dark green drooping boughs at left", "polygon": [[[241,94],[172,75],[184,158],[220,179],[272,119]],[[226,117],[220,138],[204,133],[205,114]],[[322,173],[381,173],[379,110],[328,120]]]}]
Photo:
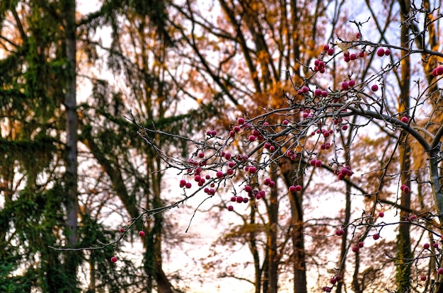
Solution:
[{"label": "straight grey conifer trunk amid dark green drooping boughs at left", "polygon": [[[77,202],[77,127],[78,117],[76,112],[76,23],[75,0],[64,0],[63,25],[66,33],[67,57],[67,85],[64,106],[67,120],[66,144],[66,207],[67,207],[67,246],[75,247],[78,243],[77,216],[79,205]],[[66,272],[69,278],[69,291],[76,292],[76,271],[78,266],[76,253],[66,253]]]}]

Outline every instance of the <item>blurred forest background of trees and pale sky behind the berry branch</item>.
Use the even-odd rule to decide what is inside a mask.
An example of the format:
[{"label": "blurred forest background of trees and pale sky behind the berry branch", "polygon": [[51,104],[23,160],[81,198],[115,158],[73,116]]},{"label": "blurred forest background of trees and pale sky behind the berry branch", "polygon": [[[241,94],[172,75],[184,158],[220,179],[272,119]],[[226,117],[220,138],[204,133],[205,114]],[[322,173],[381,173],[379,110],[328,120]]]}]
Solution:
[{"label": "blurred forest background of trees and pale sky behind the berry branch", "polygon": [[[277,186],[258,209],[244,205],[228,212],[226,185],[191,223],[205,196],[142,217],[115,245],[75,248],[111,243],[144,209],[183,199],[183,172],[168,168],[128,118],[175,134],[151,139],[187,160],[197,149],[179,137],[197,141],[207,130],[227,137],[237,117],[284,107],[283,93],[296,93],[292,85],[303,83],[309,71],[304,64],[312,64],[324,44],[361,33],[375,43],[441,51],[439,5],[1,0],[0,291],[320,292],[340,267],[343,281],[334,292],[425,292],[430,283],[420,283],[419,276],[430,280],[435,263],[424,258],[399,270],[395,256],[420,255],[420,243],[432,238],[427,230],[392,229],[357,254],[347,253],[352,231],[333,236],[372,208],[372,197],[355,190],[378,192],[386,221],[433,209],[426,187],[400,197],[399,176],[386,176],[378,190],[386,161],[392,161],[390,170],[415,170],[418,182],[426,173],[422,154],[392,151],[398,136],[381,124],[340,137],[352,169],[366,175],[353,177],[352,184],[331,184],[333,173],[317,169],[300,179],[304,189],[294,197],[287,188],[297,166],[289,162],[287,172],[271,166]],[[393,50],[384,62],[401,54]],[[437,91],[430,71],[439,59],[424,59],[411,57],[407,70],[402,64],[379,80],[392,113],[405,110],[413,80]],[[357,81],[372,76],[380,62],[374,54],[353,64],[330,62],[326,74],[312,80],[337,88],[349,74]],[[235,147],[241,154],[242,144]],[[410,181],[404,176],[402,182]],[[117,263],[110,262],[114,255]]]}]

